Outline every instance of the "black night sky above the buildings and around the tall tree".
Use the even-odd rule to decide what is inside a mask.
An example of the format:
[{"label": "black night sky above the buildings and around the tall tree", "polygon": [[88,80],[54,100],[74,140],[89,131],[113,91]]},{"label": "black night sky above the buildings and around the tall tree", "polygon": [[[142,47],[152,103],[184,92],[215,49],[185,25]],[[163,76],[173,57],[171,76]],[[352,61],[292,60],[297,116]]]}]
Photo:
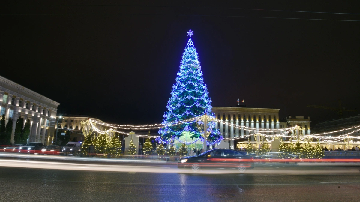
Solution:
[{"label": "black night sky above the buildings and around the tall tree", "polygon": [[244,98],[313,123],[337,114],[307,104],[360,109],[360,15],[289,12],[360,13],[359,1],[26,2],[0,6],[0,75],[63,114],[161,122],[189,29],[212,106]]}]

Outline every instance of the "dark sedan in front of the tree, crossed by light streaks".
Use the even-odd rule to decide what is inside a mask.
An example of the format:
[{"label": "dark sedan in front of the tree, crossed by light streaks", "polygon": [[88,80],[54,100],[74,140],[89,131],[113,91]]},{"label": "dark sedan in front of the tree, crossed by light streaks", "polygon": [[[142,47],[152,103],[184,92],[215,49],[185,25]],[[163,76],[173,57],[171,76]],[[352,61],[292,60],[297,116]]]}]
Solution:
[{"label": "dark sedan in front of the tree, crossed by light streaks", "polygon": [[199,154],[179,159],[177,167],[181,169],[190,168],[197,172],[200,169],[237,169],[245,172],[254,168],[253,157],[233,149],[211,149]]}]

